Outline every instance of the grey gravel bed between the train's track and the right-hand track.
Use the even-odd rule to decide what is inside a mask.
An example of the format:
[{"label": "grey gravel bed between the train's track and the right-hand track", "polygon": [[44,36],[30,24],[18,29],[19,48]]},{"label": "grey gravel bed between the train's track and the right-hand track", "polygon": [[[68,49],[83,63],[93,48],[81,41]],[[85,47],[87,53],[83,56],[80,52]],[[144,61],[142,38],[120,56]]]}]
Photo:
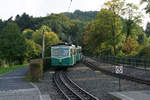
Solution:
[{"label": "grey gravel bed between the train's track and the right-hand track", "polygon": [[[118,91],[118,78],[94,72],[83,64],[68,69],[68,76],[80,87],[102,100],[112,100],[109,92]],[[122,91],[150,90],[150,87],[135,82],[121,80]]]}]

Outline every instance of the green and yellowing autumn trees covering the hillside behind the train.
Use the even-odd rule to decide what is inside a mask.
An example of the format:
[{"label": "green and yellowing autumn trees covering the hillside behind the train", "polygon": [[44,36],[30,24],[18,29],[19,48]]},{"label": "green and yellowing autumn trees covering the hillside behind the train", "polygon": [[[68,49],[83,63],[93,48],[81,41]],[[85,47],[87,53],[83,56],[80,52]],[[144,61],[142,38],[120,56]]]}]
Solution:
[{"label": "green and yellowing autumn trees covering the hillside behind the train", "polygon": [[0,67],[41,58],[43,33],[46,57],[50,57],[51,45],[59,42],[81,45],[84,52],[97,55],[149,55],[150,25],[145,31],[140,26],[139,7],[124,0],[104,5],[99,12],[76,10],[45,17],[24,13],[14,20],[0,19]]}]

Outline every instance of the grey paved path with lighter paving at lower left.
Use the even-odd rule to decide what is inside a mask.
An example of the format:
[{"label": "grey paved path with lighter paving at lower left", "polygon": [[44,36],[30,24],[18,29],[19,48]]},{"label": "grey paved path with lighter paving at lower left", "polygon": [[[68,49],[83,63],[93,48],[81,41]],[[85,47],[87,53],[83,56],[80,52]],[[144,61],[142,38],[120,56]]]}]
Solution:
[{"label": "grey paved path with lighter paving at lower left", "polygon": [[0,100],[43,100],[39,89],[25,80],[29,67],[0,76]]}]

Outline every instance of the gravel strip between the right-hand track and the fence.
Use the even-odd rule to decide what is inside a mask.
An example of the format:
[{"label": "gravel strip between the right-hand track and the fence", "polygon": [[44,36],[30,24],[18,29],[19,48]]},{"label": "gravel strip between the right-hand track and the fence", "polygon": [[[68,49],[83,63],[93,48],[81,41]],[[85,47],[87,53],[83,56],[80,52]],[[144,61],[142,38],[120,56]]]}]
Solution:
[{"label": "gravel strip between the right-hand track and the fence", "polygon": [[[90,58],[87,58],[87,60],[92,62],[93,64],[95,64],[97,67],[104,68],[106,70],[115,72],[115,66],[112,64],[98,62],[98,61],[95,61]],[[133,68],[132,66],[131,67],[123,67],[123,74],[150,80],[150,70],[145,71],[143,69]]]}]

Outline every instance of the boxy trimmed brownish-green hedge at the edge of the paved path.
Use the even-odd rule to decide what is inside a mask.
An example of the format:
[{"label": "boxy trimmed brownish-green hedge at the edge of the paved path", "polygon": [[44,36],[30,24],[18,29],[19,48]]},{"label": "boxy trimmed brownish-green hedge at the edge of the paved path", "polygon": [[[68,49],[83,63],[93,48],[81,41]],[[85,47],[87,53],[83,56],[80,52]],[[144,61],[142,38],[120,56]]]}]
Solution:
[{"label": "boxy trimmed brownish-green hedge at the edge of the paved path", "polygon": [[38,82],[43,74],[43,60],[34,59],[30,62],[30,81]]}]

